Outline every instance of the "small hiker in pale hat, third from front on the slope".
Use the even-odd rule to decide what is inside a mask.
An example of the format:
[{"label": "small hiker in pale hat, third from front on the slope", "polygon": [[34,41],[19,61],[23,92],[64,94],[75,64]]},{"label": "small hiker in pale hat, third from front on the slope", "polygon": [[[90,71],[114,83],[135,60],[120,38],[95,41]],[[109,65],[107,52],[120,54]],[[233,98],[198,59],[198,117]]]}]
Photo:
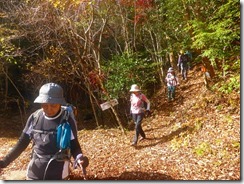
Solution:
[{"label": "small hiker in pale hat, third from front on the slope", "polygon": [[179,84],[179,81],[172,67],[168,69],[165,82],[167,83],[168,88],[168,101],[174,100],[176,86]]}]

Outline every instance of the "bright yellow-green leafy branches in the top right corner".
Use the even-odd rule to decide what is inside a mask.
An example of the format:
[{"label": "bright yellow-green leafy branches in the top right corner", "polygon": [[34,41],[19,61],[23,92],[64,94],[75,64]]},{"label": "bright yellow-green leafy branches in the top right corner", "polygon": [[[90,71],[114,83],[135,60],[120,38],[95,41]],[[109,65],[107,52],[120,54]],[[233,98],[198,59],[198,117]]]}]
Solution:
[{"label": "bright yellow-green leafy branches in the top right corner", "polygon": [[192,21],[194,29],[193,47],[203,50],[202,56],[210,60],[229,58],[236,55],[240,45],[240,5],[238,1],[228,1],[219,6],[207,20]]}]

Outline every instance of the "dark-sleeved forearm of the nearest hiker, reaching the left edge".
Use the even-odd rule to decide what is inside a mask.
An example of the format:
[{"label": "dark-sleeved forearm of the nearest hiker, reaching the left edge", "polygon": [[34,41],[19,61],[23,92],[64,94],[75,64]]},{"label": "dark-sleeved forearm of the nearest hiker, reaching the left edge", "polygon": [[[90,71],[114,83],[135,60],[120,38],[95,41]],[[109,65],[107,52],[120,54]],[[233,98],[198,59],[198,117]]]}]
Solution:
[{"label": "dark-sleeved forearm of the nearest hiker, reaching the left edge", "polygon": [[19,155],[27,148],[30,143],[30,137],[28,134],[22,133],[17,144],[13,149],[0,160],[0,168],[7,167],[12,161],[19,157]]}]

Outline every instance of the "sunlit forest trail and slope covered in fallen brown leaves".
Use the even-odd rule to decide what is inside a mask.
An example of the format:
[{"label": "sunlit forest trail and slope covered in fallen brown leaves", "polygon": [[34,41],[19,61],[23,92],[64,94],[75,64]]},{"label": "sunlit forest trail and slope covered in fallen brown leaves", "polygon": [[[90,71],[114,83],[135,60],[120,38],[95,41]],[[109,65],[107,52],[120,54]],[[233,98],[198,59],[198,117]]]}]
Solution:
[{"label": "sunlit forest trail and slope covered in fallen brown leaves", "polygon": [[[89,180],[240,180],[240,94],[217,96],[195,67],[187,81],[180,80],[175,101],[167,102],[162,87],[151,102],[152,115],[142,125],[147,139],[136,147],[130,146],[134,130],[79,131]],[[0,133],[2,157],[18,137]],[[0,179],[25,172],[29,154],[30,148]],[[70,179],[82,180],[81,171],[73,170]]]}]

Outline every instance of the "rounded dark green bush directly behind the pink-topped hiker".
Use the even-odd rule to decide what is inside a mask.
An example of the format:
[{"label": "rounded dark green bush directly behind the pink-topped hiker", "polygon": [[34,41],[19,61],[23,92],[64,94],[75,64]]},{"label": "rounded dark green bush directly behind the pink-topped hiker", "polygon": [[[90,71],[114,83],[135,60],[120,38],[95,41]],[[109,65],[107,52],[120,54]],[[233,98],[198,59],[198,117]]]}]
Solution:
[{"label": "rounded dark green bush directly behind the pink-topped hiker", "polygon": [[114,98],[128,96],[132,84],[138,84],[144,89],[156,81],[155,64],[139,54],[115,55],[104,64],[103,70],[107,74],[105,88]]}]

